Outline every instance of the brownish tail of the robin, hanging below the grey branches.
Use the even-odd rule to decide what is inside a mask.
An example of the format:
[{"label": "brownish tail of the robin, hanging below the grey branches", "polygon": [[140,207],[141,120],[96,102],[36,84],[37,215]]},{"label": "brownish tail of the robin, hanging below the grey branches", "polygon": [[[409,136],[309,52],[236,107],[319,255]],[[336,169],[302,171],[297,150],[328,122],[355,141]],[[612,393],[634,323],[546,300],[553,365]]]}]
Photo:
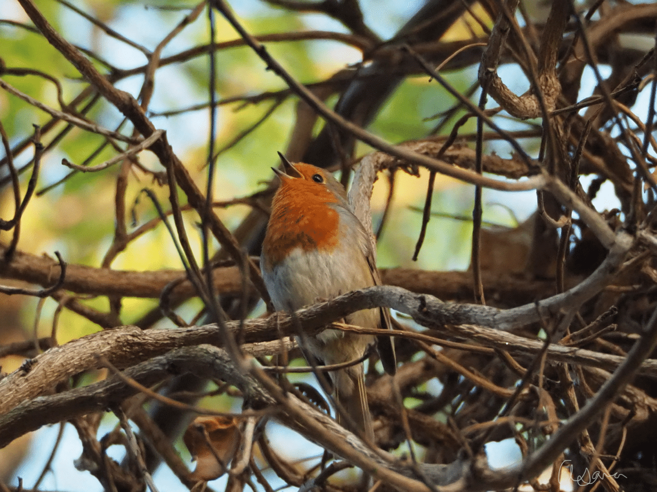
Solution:
[{"label": "brownish tail of the robin, hanging below the grey branches", "polygon": [[350,420],[353,420],[355,427],[340,415],[340,411],[336,411],[336,420],[357,436],[364,432],[367,439],[374,442],[374,428],[367,404],[363,364],[336,371],[334,381],[335,399],[349,415]]}]

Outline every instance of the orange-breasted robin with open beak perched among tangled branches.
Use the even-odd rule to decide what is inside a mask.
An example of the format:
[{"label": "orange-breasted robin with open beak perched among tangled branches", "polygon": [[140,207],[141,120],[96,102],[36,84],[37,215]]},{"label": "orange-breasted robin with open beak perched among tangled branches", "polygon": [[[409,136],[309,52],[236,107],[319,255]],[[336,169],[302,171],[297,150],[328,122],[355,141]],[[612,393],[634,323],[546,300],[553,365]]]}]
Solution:
[{"label": "orange-breasted robin with open beak perched among tangled branches", "polygon": [[[292,164],[280,152],[279,156],[284,171],[272,168],[281,185],[273,197],[260,256],[260,269],[274,308],[294,311],[379,285],[370,233],[353,214],[344,186],[325,169]],[[345,322],[392,328],[387,308],[361,310],[346,316]],[[384,370],[394,375],[392,337],[376,338]],[[336,329],[299,340],[306,359],[312,357],[328,365],[362,358],[374,342],[372,335]],[[374,442],[363,363],[331,371],[330,379],[335,400],[350,417],[343,419],[336,411],[338,422]]]}]

